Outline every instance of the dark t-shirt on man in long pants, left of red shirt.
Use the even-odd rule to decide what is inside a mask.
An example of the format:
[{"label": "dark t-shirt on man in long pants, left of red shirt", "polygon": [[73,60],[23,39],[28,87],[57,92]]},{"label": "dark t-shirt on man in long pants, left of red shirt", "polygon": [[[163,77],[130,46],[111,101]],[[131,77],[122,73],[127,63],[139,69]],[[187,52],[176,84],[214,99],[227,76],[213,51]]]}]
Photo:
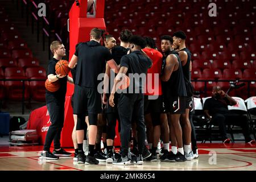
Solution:
[{"label": "dark t-shirt on man in long pants, left of red shirt", "polygon": [[[128,68],[128,71],[126,75],[129,76],[129,73],[137,73],[138,75],[141,75],[144,73],[145,79],[139,79],[138,77],[134,77],[133,81],[133,93],[135,90],[138,90],[139,93],[142,93],[145,83],[143,81],[146,81],[146,73],[148,68],[151,68],[152,61],[148,57],[142,55],[141,51],[133,51],[129,55],[125,55],[121,59],[120,68],[126,67]],[[131,77],[129,77],[131,79]],[[130,89],[129,89],[130,91]],[[144,92],[144,91],[143,91]]]}]

